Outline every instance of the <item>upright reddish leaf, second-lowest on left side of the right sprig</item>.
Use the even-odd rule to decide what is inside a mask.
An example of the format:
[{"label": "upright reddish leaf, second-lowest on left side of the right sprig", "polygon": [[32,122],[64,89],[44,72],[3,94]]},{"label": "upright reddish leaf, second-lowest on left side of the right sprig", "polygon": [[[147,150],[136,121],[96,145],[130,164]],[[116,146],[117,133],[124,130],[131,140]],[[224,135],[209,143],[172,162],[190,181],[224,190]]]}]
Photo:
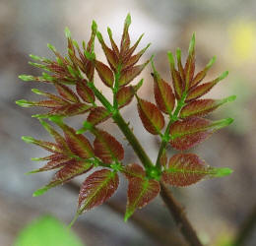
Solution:
[{"label": "upright reddish leaf, second-lowest on left side of the right sprig", "polygon": [[171,87],[156,73],[154,73],[154,92],[160,110],[170,115],[175,105],[175,97]]}]

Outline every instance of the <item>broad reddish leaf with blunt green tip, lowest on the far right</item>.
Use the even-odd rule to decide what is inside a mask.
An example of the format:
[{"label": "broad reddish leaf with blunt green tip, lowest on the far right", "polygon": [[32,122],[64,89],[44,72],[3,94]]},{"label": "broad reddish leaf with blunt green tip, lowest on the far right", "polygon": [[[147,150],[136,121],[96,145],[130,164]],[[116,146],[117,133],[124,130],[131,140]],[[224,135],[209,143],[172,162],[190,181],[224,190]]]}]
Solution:
[{"label": "broad reddish leaf with blunt green tip, lowest on the far right", "polygon": [[174,154],[162,173],[162,181],[173,186],[188,186],[205,177],[221,177],[231,173],[229,168],[214,168],[196,154]]}]

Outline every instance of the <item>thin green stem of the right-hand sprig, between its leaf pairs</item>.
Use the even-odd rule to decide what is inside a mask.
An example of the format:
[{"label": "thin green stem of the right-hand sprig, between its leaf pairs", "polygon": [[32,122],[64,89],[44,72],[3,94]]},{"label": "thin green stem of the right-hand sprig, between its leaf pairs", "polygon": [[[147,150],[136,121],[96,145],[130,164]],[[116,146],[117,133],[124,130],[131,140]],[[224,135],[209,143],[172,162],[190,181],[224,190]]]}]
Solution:
[{"label": "thin green stem of the right-hand sprig, between its leaf pairs", "polygon": [[160,143],[160,152],[158,154],[158,158],[157,158],[157,163],[156,163],[156,167],[160,170],[160,156],[162,154],[162,152],[166,149],[167,143],[169,141],[169,128],[170,126],[178,120],[178,114],[179,111],[181,110],[181,108],[185,105],[185,99],[186,99],[187,93],[183,93],[181,98],[178,100],[177,103],[177,107],[173,113],[173,115],[170,117],[170,120],[168,122],[168,125],[165,129],[164,135],[161,138],[161,143]]}]

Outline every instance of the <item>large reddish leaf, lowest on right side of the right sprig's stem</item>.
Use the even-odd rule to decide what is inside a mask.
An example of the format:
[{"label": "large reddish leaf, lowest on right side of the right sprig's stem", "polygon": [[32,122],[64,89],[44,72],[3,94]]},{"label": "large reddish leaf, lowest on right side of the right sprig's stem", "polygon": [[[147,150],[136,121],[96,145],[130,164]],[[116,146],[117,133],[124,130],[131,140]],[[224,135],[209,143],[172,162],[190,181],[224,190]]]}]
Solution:
[{"label": "large reddish leaf, lowest on right side of the right sprig's stem", "polygon": [[215,131],[232,123],[232,119],[210,121],[199,117],[176,121],[170,126],[170,145],[179,151],[188,150],[203,142]]}]

